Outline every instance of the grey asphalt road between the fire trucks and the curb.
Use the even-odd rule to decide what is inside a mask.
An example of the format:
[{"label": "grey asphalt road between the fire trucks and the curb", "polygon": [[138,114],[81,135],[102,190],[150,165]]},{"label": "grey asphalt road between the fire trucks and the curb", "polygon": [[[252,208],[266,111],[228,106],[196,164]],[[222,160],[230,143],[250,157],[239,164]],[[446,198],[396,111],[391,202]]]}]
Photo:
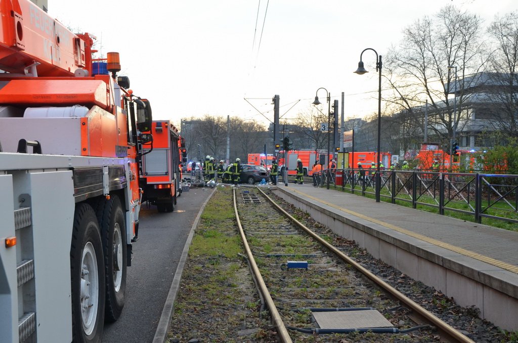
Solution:
[{"label": "grey asphalt road between the fire trucks and the curb", "polygon": [[117,322],[105,324],[103,343],[153,341],[185,240],[211,191],[183,192],[170,213],[144,204],[132,266],[127,268],[126,304]]}]

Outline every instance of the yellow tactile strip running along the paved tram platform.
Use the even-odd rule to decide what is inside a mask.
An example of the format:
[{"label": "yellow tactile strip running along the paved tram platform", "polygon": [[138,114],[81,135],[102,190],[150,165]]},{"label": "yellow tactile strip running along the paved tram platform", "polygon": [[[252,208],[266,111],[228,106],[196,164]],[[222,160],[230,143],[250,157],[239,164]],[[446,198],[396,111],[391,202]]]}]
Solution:
[{"label": "yellow tactile strip running along the paved tram platform", "polygon": [[499,260],[495,260],[495,259],[492,259],[492,258],[490,258],[488,256],[485,256],[485,255],[482,255],[482,254],[479,254],[479,253],[476,253],[476,252],[473,252],[473,251],[470,251],[470,250],[466,250],[466,249],[463,249],[463,248],[459,248],[457,246],[454,246],[454,245],[445,243],[443,241],[440,241],[440,240],[437,240],[437,239],[434,239],[434,238],[430,238],[430,237],[427,237],[427,236],[424,236],[424,235],[421,235],[421,234],[418,234],[418,233],[415,233],[415,232],[412,232],[412,231],[405,230],[402,227],[399,227],[399,226],[396,226],[396,225],[392,225],[390,223],[386,223],[384,221],[381,221],[381,220],[378,220],[378,219],[374,219],[374,218],[362,215],[362,213],[351,211],[351,210],[348,210],[346,208],[337,206],[335,204],[328,203],[328,202],[326,202],[326,201],[324,201],[324,200],[322,200],[320,198],[314,197],[314,196],[312,196],[312,195],[310,195],[308,193],[304,193],[304,192],[301,192],[301,191],[298,191],[298,190],[293,190],[293,191],[295,193],[298,193],[300,195],[304,195],[305,197],[313,199],[316,202],[320,202],[320,203],[326,204],[327,206],[330,206],[330,207],[336,208],[336,209],[338,209],[340,211],[349,213],[350,215],[356,216],[358,218],[362,218],[362,219],[368,220],[370,222],[373,222],[373,223],[376,223],[376,224],[388,227],[388,228],[390,228],[390,229],[392,229],[394,231],[400,232],[402,234],[409,235],[409,236],[417,238],[417,239],[421,239],[421,240],[423,240],[425,242],[428,242],[430,244],[436,245],[438,247],[454,251],[456,253],[468,256],[468,257],[470,257],[472,259],[476,259],[476,260],[479,260],[479,261],[482,261],[482,262],[494,265],[496,267],[512,271],[512,273],[518,274],[518,267],[516,267],[516,266],[514,266],[512,264],[509,264],[509,263],[506,263],[506,262],[502,262],[502,261],[499,261]]}]

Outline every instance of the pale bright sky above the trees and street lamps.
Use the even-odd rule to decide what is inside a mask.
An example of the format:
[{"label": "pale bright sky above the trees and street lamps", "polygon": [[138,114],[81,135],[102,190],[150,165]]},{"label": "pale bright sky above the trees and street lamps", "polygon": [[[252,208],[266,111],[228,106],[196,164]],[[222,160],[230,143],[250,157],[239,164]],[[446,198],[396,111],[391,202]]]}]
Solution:
[{"label": "pale bright sky above the trees and street lamps", "polygon": [[[376,54],[354,74],[359,55],[384,55],[402,30],[453,4],[479,15],[518,10],[517,0],[169,0],[124,2],[48,0],[49,15],[75,32],[97,37],[97,49],[120,53],[119,75],[148,98],[153,119],[205,115],[280,122],[311,107],[317,89],[324,104],[344,93],[344,116],[377,113]],[[340,110],[341,111],[341,110]]]}]

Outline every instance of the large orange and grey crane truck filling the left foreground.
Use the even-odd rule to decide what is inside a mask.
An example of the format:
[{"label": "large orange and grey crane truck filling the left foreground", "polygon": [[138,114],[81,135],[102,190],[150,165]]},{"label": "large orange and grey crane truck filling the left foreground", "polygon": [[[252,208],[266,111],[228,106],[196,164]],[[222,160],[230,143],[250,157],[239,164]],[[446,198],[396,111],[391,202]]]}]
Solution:
[{"label": "large orange and grey crane truck filling the left foreground", "polygon": [[88,33],[1,4],[0,340],[100,342],[124,307],[150,103]]}]

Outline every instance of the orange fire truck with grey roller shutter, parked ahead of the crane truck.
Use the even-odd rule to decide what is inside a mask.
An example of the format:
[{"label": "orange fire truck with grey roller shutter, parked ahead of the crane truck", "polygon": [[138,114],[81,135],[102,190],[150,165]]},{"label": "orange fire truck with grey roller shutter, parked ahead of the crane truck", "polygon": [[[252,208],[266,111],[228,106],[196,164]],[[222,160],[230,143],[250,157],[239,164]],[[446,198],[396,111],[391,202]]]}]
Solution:
[{"label": "orange fire truck with grey roller shutter, parked ahead of the crane truck", "polygon": [[156,205],[159,212],[172,212],[181,195],[181,163],[185,141],[168,120],[151,125],[153,141],[144,146],[140,169],[142,201]]}]

